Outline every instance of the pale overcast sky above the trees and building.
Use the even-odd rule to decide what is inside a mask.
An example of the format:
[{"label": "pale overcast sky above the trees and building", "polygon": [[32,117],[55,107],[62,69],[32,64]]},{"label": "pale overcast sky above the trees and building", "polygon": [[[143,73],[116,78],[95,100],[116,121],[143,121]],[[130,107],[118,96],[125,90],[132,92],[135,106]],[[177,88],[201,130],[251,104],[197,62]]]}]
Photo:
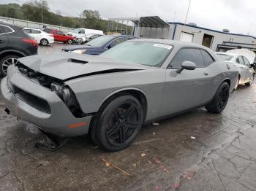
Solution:
[{"label": "pale overcast sky above the trees and building", "polygon": [[[22,0],[28,1],[28,0]],[[98,10],[101,17],[159,16],[184,23],[189,0],[47,0],[50,9],[78,16],[83,9]],[[0,4],[18,3],[0,0]],[[187,23],[231,33],[256,36],[255,0],[191,0]]]}]

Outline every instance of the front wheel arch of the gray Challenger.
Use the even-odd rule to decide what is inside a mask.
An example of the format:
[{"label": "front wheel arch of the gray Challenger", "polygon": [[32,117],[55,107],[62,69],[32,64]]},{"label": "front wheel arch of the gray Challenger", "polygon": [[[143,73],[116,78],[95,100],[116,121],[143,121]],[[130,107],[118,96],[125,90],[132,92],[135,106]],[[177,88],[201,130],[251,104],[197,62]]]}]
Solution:
[{"label": "front wheel arch of the gray Challenger", "polygon": [[124,89],[120,89],[120,90],[116,90],[113,93],[110,93],[108,96],[106,96],[106,98],[101,102],[101,104],[99,105],[99,108],[105,104],[108,100],[115,98],[119,95],[122,94],[129,94],[134,96],[135,98],[138,99],[138,101],[140,101],[141,106],[143,106],[143,114],[144,114],[144,119],[146,119],[146,114],[148,111],[148,101],[146,98],[146,93],[143,92],[143,90],[140,90],[138,88],[135,87],[129,87],[129,88],[124,88]]}]

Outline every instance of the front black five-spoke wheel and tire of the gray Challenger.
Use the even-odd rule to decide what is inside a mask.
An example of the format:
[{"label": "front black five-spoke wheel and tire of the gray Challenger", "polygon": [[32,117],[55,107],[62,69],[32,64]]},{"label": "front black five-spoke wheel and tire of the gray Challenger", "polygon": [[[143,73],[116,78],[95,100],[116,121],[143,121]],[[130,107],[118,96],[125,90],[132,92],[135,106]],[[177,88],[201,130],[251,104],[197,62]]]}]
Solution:
[{"label": "front black five-spoke wheel and tire of the gray Challenger", "polygon": [[143,125],[143,108],[132,95],[111,98],[94,116],[91,139],[101,149],[116,152],[132,143]]}]

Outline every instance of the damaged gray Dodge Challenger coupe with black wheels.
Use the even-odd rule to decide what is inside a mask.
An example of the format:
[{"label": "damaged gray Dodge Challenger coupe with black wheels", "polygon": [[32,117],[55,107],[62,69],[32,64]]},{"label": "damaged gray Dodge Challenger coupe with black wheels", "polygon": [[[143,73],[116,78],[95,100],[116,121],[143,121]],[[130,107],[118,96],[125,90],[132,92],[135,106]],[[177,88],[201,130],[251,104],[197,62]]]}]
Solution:
[{"label": "damaged gray Dodge Challenger coupe with black wheels", "polygon": [[58,52],[20,58],[1,81],[7,111],[62,136],[90,134],[124,149],[143,123],[205,106],[220,113],[238,79],[207,47],[134,39],[102,55]]}]

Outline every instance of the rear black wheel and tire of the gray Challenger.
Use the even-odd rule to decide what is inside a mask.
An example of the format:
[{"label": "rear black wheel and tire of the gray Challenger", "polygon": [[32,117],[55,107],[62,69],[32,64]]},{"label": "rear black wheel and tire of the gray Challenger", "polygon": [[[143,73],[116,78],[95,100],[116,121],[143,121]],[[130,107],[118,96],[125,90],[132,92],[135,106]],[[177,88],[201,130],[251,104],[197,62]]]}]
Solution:
[{"label": "rear black wheel and tire of the gray Challenger", "polygon": [[227,106],[229,95],[230,86],[227,84],[227,82],[223,82],[219,86],[217,93],[214,95],[214,99],[211,101],[210,104],[206,105],[206,109],[208,110],[208,112],[215,114],[221,113]]}]

